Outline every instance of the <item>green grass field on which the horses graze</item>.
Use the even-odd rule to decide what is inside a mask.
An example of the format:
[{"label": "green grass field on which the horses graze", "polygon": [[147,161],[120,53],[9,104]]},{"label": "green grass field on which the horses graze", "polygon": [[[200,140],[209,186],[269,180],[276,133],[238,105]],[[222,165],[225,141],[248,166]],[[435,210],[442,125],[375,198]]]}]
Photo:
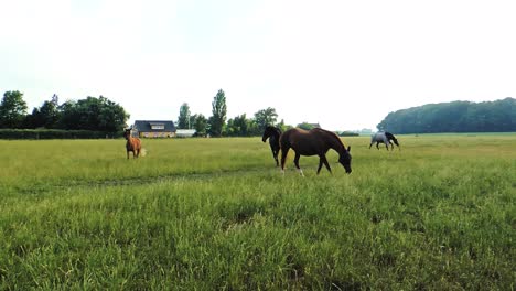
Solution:
[{"label": "green grass field on which the horses graze", "polygon": [[514,290],[516,134],[0,141],[0,289]]}]

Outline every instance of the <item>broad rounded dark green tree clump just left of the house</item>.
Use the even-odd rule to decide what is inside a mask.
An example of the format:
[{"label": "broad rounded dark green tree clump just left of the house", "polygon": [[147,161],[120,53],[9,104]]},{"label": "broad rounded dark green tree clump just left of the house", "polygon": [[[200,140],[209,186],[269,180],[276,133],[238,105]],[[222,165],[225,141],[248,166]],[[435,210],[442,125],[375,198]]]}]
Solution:
[{"label": "broad rounded dark green tree clump just left of the house", "polygon": [[63,129],[86,129],[107,132],[121,131],[129,115],[123,107],[106,97],[87,97],[78,101],[66,101],[60,106]]}]

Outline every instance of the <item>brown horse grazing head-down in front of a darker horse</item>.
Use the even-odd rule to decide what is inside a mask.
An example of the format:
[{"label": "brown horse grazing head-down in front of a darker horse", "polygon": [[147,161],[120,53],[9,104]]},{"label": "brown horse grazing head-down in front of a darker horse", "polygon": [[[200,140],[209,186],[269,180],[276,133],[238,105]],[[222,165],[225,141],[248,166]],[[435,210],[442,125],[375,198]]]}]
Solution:
[{"label": "brown horse grazing head-down in front of a darker horse", "polygon": [[319,155],[319,168],[318,174],[321,172],[321,168],[324,163],[327,171],[332,172],[330,164],[326,160],[326,152],[330,149],[335,150],[338,152],[338,162],[344,166],[346,173],[351,173],[351,147],[347,149],[342,143],[341,139],[337,134],[320,129],[314,128],[310,131],[302,130],[299,128],[289,129],[283,132],[280,137],[280,146],[281,146],[281,172],[284,173],[284,159],[287,158],[287,153],[289,152],[290,148],[295,151],[294,164],[298,168],[298,171],[303,174],[303,171],[299,166],[299,158],[301,155]]}]

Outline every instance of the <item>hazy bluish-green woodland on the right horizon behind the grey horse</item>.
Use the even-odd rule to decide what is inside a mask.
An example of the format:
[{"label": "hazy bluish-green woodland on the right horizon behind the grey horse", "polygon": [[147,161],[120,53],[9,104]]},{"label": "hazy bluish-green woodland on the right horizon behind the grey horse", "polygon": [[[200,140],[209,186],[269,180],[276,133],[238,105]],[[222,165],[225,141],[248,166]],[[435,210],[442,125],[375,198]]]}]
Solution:
[{"label": "hazy bluish-green woodland on the right horizon behind the grey horse", "polygon": [[390,112],[377,128],[396,133],[516,131],[516,99],[428,104]]}]

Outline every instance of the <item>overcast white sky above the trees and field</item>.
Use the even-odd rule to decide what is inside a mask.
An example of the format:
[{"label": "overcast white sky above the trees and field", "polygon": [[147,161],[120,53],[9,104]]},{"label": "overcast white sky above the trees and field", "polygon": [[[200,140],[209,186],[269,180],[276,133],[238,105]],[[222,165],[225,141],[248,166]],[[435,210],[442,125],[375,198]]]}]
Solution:
[{"label": "overcast white sky above the trees and field", "polygon": [[0,91],[29,112],[103,95],[135,119],[375,129],[428,103],[516,97],[516,1],[0,0]]}]

